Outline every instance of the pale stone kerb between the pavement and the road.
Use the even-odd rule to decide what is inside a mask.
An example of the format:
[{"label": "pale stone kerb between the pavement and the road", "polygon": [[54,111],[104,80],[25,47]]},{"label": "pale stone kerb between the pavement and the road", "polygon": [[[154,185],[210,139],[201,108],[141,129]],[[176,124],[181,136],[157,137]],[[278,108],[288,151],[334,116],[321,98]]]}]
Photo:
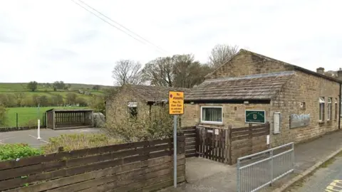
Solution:
[{"label": "pale stone kerb between the pavement and the road", "polygon": [[342,151],[342,146],[340,149],[334,151],[331,155],[327,156],[325,159],[323,159],[322,161],[318,161],[316,164],[314,164],[314,166],[311,166],[309,169],[306,169],[304,172],[302,172],[301,174],[299,174],[298,176],[295,176],[294,178],[291,178],[289,181],[287,181],[286,183],[284,183],[280,188],[276,188],[274,189],[272,192],[282,192],[285,191],[287,188],[289,188],[290,186],[292,186],[294,183],[296,183],[297,181],[301,180],[302,178],[305,178],[306,176],[308,176],[309,174],[311,174],[313,171],[315,171],[316,169],[318,169],[318,167],[320,167],[322,164],[324,164],[326,161],[332,159],[334,156],[336,156],[338,153],[340,153]]}]

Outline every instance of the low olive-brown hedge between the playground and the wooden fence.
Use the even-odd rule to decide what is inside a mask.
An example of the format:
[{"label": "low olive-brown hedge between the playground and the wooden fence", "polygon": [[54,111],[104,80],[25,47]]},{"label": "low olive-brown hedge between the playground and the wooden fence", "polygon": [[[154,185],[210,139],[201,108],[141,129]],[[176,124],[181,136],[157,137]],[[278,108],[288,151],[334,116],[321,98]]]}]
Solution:
[{"label": "low olive-brown hedge between the playground and the wooden fence", "polygon": [[50,143],[42,147],[46,154],[56,153],[60,146],[63,146],[65,151],[71,151],[122,143],[121,140],[112,139],[105,134],[62,134],[48,139],[48,142]]}]

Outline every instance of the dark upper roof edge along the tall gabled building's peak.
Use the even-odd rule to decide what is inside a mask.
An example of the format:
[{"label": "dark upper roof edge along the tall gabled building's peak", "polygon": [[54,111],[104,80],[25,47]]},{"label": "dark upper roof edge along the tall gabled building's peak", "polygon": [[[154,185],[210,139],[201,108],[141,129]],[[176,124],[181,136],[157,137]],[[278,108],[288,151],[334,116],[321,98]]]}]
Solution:
[{"label": "dark upper roof edge along the tall gabled building's peak", "polygon": [[[316,73],[316,72],[314,72],[314,71],[312,71],[312,70],[308,70],[308,69],[306,69],[306,68],[301,68],[301,67],[299,67],[299,66],[297,66],[297,65],[292,65],[292,64],[290,64],[290,63],[286,63],[286,62],[281,61],[281,60],[276,60],[276,59],[274,59],[274,58],[270,58],[270,57],[267,57],[267,56],[265,56],[265,55],[261,55],[261,54],[259,54],[259,53],[254,53],[254,52],[252,52],[252,51],[250,51],[250,50],[245,50],[245,49],[242,48],[242,49],[239,50],[239,52],[237,53],[237,55],[238,55],[239,53],[249,53],[249,54],[251,54],[251,55],[257,56],[257,57],[262,58],[262,59],[264,59],[264,60],[270,60],[270,61],[272,61],[272,62],[274,62],[274,63],[281,63],[282,65],[290,66],[293,70],[299,70],[299,71],[301,71],[301,72],[303,72],[303,73],[307,73],[307,74],[309,74],[309,75],[315,75],[316,77],[325,78],[325,79],[327,79],[327,80],[332,80],[332,81],[335,81],[335,82],[342,83],[341,80],[338,80],[338,79],[336,79],[336,78],[331,78],[331,77],[328,77],[328,76],[326,76],[326,75],[322,75],[322,74],[320,74],[320,73]],[[234,58],[234,57],[232,57],[232,58]],[[232,58],[231,58],[230,60],[232,60]],[[228,60],[227,62],[229,62],[230,60]],[[226,62],[226,63],[227,63],[227,62]],[[221,68],[221,67],[222,67],[223,65],[225,65],[226,63],[222,64],[219,68]],[[218,70],[219,68],[217,68],[216,70]],[[214,71],[216,71],[216,70],[214,70]],[[214,73],[214,71],[213,71],[212,73]],[[209,73],[207,76],[211,75],[212,73]]]}]

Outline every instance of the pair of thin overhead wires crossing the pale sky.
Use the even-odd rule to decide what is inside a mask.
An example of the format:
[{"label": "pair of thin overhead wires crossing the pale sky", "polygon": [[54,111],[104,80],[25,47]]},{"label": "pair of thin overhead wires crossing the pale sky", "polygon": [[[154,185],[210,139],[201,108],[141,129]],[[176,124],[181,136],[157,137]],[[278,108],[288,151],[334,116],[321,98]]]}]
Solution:
[{"label": "pair of thin overhead wires crossing the pale sky", "polygon": [[75,0],[71,0],[73,1],[73,3],[77,4],[78,6],[81,6],[83,9],[85,9],[86,11],[88,11],[90,14],[93,14],[94,16],[96,16],[97,18],[100,18],[102,21],[104,21],[105,23],[108,23],[110,26],[118,29],[119,31],[122,31],[123,33],[125,33],[126,35],[130,36],[131,38],[134,38],[136,41],[139,41],[142,44],[147,45],[147,43],[150,43],[150,45],[155,46],[156,50],[160,53],[167,53],[166,50],[163,50],[162,48],[156,46],[155,44],[151,43],[150,41],[147,41],[147,39],[142,38],[141,36],[139,36],[137,33],[134,33],[133,31],[130,31],[130,29],[126,28],[125,26],[121,25],[120,23],[114,21],[113,19],[109,18],[108,16],[105,16],[104,14],[100,13],[100,11],[97,11],[96,9],[93,9],[91,6],[89,6],[88,4],[86,4],[85,2],[81,1],[83,4],[86,4],[86,6],[88,6],[90,9],[93,9],[94,11],[98,12],[98,14],[104,16],[105,18],[108,18],[108,20],[112,21],[113,23],[118,24],[119,26],[121,26],[122,28],[125,28],[127,31],[130,31],[130,33],[135,34],[135,36],[138,36],[139,38],[141,38],[142,40],[140,40],[139,38],[136,38],[135,36],[132,36],[130,33],[127,33],[126,31],[124,31],[123,29],[119,28],[118,26],[113,25],[113,23],[110,23],[108,21],[106,21],[104,18],[101,18],[100,16],[98,16],[97,14],[95,14],[93,11],[90,11],[89,9],[87,9],[85,6],[79,4],[78,2],[76,2]]}]

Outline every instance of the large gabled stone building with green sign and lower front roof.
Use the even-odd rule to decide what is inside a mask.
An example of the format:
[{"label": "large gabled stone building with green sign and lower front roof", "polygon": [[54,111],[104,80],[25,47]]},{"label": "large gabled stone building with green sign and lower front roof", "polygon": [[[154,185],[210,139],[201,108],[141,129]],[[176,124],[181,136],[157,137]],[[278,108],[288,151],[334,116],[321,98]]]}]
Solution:
[{"label": "large gabled stone building with green sign and lower front roof", "polygon": [[246,127],[251,118],[270,122],[271,146],[340,129],[341,81],[323,75],[323,68],[318,72],[239,50],[185,95],[182,124],[224,128]]}]

